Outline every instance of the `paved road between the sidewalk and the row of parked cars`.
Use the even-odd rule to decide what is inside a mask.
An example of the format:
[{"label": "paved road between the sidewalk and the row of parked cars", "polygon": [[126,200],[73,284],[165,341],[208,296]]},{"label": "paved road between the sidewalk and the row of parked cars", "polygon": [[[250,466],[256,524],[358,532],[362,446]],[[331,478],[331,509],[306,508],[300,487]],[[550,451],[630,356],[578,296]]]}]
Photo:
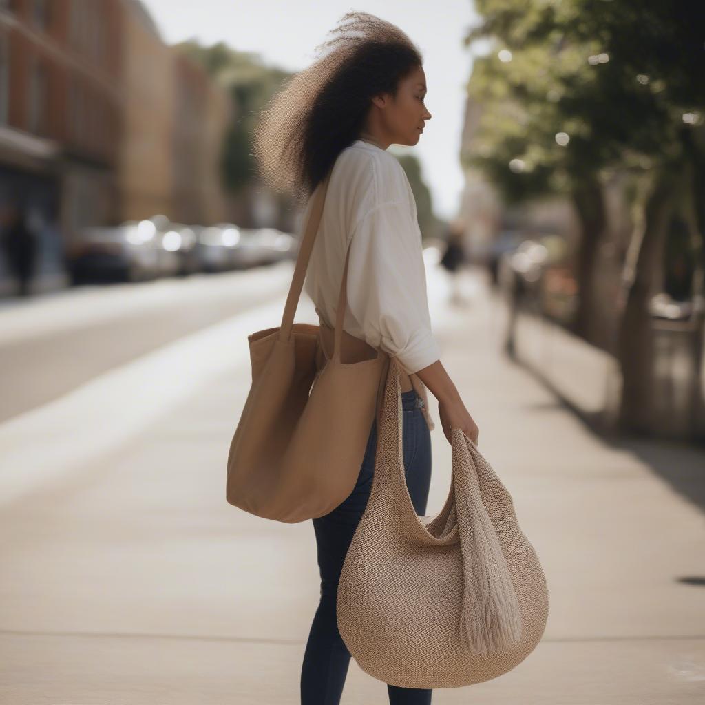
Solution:
[{"label": "paved road between the sidewalk and the row of parked cars", "polygon": [[289,262],[216,276],[81,286],[0,308],[0,421],[152,350],[286,296]]}]

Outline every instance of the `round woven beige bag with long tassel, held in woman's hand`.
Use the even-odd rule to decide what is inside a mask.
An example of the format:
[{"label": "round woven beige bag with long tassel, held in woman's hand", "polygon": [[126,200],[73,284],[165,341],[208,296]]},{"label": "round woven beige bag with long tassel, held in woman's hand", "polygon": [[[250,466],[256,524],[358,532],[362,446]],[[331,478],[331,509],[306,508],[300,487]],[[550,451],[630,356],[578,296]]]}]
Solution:
[{"label": "round woven beige bag with long tassel, held in woman's hand", "polygon": [[441,512],[419,517],[405,481],[398,361],[377,418],[371,494],[338,582],[338,629],[374,678],[453,688],[496,678],[538,644],[548,589],[512,498],[462,429]]}]

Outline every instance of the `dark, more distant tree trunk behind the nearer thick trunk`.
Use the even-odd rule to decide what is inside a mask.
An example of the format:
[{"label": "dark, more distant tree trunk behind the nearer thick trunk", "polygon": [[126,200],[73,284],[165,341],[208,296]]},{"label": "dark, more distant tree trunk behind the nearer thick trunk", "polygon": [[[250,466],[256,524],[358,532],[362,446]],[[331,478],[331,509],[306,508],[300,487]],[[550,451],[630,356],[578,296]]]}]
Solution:
[{"label": "dark, more distant tree trunk behind the nearer thick trunk", "polygon": [[589,343],[598,344],[599,307],[594,295],[594,271],[606,226],[604,195],[599,181],[593,178],[573,190],[571,197],[581,226],[576,271],[578,302],[571,328]]}]

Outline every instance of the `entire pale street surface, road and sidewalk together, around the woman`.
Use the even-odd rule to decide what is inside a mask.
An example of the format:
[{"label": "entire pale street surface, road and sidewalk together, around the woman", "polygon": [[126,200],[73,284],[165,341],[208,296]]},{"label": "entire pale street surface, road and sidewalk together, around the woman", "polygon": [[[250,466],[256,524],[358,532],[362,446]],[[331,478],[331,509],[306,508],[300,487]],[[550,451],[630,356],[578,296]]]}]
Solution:
[{"label": "entire pale street surface, road and sidewalk together, around the woman", "polygon": [[[0,701],[295,705],[319,598],[311,522],[228,505],[247,334],[281,322],[292,263],[67,290],[0,309]],[[546,572],[544,638],[510,673],[434,703],[705,699],[705,454],[608,443],[501,350],[483,276],[441,358]],[[315,321],[302,295],[295,320]],[[448,493],[438,407],[428,513]],[[386,702],[350,663],[345,705]]]}]

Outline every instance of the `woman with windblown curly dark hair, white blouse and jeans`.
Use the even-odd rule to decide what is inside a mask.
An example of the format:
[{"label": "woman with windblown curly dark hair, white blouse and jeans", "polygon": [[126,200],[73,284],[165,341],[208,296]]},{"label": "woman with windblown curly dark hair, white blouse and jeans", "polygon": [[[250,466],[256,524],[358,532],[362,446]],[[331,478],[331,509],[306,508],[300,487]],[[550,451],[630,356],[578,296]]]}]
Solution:
[{"label": "woman with windblown curly dark hair, white blouse and jeans", "polygon": [[[419,141],[431,118],[426,77],[421,54],[398,27],[361,12],[346,13],[341,22],[336,36],[317,47],[325,50],[319,59],[265,109],[255,154],[264,182],[301,202],[332,170],[305,289],[331,326],[350,243],[343,329],[395,355],[408,372],[401,387],[405,475],[415,510],[424,515],[434,427],[426,388],[439,401],[448,443],[451,427],[476,442],[479,434],[439,360],[416,204],[403,168],[386,151]],[[313,520],[321,595],[302,664],[302,705],[341,699],[350,652],[338,632],[338,579],[369,498],[375,453],[376,419],[355,488],[335,510]],[[431,702],[430,689],[387,688],[391,704]]]}]

